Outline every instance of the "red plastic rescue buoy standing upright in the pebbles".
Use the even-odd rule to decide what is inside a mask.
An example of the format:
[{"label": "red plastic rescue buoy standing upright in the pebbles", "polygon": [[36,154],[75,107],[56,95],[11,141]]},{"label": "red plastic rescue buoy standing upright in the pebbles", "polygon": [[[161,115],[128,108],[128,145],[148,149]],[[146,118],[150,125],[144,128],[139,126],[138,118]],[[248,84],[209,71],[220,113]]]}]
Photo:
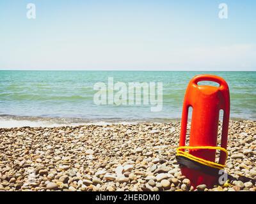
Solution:
[{"label": "red plastic rescue buoy standing upright in the pebbles", "polygon": [[[219,84],[219,87],[211,85],[198,85],[201,81],[211,81]],[[191,117],[191,129],[189,136],[189,147],[186,147],[186,133],[188,123],[189,107],[193,108]],[[220,110],[223,110],[223,126],[221,133],[221,144],[217,147],[218,125]],[[228,85],[221,77],[214,75],[198,75],[188,84],[186,90],[180,131],[179,152],[177,155],[190,158],[194,163],[201,166],[206,165],[209,170],[220,170],[225,165],[227,159],[227,137],[228,122],[230,114],[230,96]],[[183,149],[184,148],[184,149]],[[189,149],[186,152],[185,149]],[[215,163],[216,149],[220,149],[220,160]],[[191,185],[196,187],[206,184],[208,187],[214,186],[218,182],[218,177],[200,168],[190,168],[180,166],[182,175],[185,175]]]}]

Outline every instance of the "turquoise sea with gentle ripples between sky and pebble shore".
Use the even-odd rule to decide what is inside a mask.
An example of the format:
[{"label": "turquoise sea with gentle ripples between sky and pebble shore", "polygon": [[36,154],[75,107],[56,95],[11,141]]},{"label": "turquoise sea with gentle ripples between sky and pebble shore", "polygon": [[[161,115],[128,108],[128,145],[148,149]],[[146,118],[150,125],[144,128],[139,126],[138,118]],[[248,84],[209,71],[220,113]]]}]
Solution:
[{"label": "turquoise sea with gentle ripples between sky and pebble shore", "polygon": [[[0,117],[70,121],[168,120],[181,117],[184,92],[197,74],[223,77],[230,88],[230,117],[256,119],[256,72],[193,71],[0,71]],[[115,82],[163,82],[163,109],[152,105],[95,105],[93,85]]]}]

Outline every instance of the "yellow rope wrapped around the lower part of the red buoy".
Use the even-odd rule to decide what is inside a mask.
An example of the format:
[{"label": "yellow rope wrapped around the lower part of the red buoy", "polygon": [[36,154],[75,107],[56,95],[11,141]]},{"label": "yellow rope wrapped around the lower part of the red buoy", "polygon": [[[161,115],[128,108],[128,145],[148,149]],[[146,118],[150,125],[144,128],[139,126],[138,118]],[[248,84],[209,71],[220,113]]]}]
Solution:
[{"label": "yellow rope wrapped around the lower part of the red buoy", "polygon": [[205,166],[210,166],[212,168],[218,168],[220,170],[225,168],[225,165],[223,165],[223,164],[215,163],[215,162],[212,162],[212,161],[207,161],[205,159],[193,156],[192,154],[189,154],[188,152],[182,151],[180,149],[214,149],[214,150],[221,150],[221,151],[226,153],[226,158],[225,158],[225,163],[226,163],[226,160],[227,160],[227,157],[228,157],[228,151],[226,149],[224,149],[223,147],[212,147],[212,146],[189,147],[189,146],[181,146],[181,147],[177,148],[176,156],[187,157],[188,159],[196,161],[196,162],[198,162],[200,164],[204,164]]}]

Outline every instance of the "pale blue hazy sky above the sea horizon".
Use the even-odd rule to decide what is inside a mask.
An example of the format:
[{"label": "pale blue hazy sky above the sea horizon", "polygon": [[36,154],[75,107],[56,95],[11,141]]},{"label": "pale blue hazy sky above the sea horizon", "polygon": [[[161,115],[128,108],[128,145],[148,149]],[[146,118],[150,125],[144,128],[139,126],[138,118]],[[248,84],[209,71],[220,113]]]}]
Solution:
[{"label": "pale blue hazy sky above the sea horizon", "polygon": [[254,0],[0,1],[0,69],[256,71],[255,37]]}]

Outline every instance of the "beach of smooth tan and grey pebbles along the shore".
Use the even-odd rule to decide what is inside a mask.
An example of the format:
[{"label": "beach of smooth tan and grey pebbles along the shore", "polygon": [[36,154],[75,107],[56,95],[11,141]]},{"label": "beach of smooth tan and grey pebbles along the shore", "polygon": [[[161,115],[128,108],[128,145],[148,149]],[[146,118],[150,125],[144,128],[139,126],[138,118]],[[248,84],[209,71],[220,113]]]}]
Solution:
[{"label": "beach of smooth tan and grey pebbles along the shore", "polygon": [[[1,191],[256,191],[192,187],[175,150],[180,122],[0,129]],[[256,122],[230,121],[225,171],[256,181]]]}]

